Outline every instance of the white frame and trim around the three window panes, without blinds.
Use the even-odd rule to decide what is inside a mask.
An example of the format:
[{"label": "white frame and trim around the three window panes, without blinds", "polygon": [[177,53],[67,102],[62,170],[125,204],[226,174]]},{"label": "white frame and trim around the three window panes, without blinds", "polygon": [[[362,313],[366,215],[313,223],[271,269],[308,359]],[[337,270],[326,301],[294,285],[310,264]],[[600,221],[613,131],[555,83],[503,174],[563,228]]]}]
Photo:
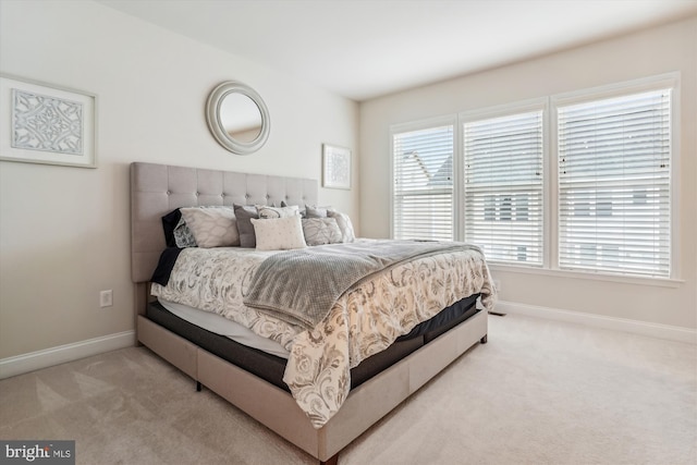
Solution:
[{"label": "white frame and trim around the three window panes, without blinds", "polygon": [[[632,273],[614,273],[606,270],[567,270],[559,266],[559,175],[558,175],[558,110],[560,106],[589,102],[643,91],[671,89],[671,166],[670,166],[670,271],[669,277],[647,277]],[[554,276],[573,279],[589,279],[606,282],[677,287],[681,280],[681,233],[680,233],[680,170],[681,170],[681,73],[671,72],[638,79],[624,81],[568,93],[559,93],[541,98],[528,99],[513,103],[492,106],[482,109],[462,111],[456,114],[430,118],[415,122],[399,123],[390,126],[390,234],[394,236],[394,134],[418,131],[429,126],[452,124],[453,135],[453,236],[456,241],[465,240],[464,207],[464,123],[536,110],[543,107],[542,127],[542,267],[514,265],[510,262],[491,262],[494,271],[519,272],[527,274]]]}]

